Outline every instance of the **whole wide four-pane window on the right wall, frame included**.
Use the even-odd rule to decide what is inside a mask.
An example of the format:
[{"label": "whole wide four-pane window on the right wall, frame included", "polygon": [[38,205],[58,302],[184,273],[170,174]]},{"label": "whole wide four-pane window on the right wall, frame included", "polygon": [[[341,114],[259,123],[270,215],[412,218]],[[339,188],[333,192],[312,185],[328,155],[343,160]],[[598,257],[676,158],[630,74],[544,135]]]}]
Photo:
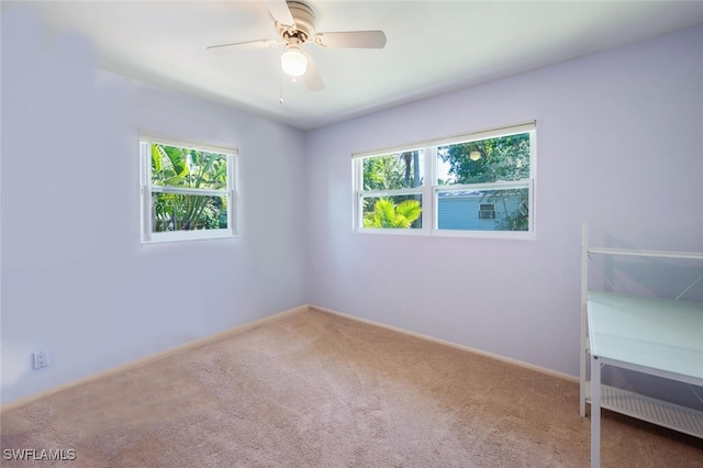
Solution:
[{"label": "whole wide four-pane window on the right wall, frame included", "polygon": [[534,238],[534,122],[353,156],[358,232]]}]

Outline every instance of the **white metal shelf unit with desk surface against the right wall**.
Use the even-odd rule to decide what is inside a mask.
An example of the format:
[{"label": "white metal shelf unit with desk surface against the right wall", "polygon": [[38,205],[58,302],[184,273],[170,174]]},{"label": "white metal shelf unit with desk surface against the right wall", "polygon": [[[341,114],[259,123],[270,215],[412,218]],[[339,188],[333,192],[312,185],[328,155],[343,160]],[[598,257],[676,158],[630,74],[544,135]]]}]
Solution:
[{"label": "white metal shelf unit with desk surface against the right wall", "polygon": [[[598,292],[589,291],[588,288],[592,254],[703,260],[703,253],[590,247],[588,238],[588,227],[584,224],[580,412],[584,416],[585,404],[591,403],[592,466],[600,466],[601,408],[703,438],[703,412],[601,385],[603,364],[703,385],[703,303],[680,301],[683,294],[703,279],[703,274],[677,299]],[[595,330],[596,327],[600,330]],[[621,330],[626,332],[621,333]],[[647,336],[648,333],[650,336]],[[587,380],[589,360],[591,381]]]}]

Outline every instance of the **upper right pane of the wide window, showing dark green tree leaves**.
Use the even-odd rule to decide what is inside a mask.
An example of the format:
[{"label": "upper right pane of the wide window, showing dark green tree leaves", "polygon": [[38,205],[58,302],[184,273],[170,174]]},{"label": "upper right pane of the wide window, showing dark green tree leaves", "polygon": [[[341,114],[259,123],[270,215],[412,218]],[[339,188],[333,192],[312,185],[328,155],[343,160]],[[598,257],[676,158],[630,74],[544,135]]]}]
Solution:
[{"label": "upper right pane of the wide window, showing dark green tree leaves", "polygon": [[529,133],[437,147],[437,185],[529,178]]}]

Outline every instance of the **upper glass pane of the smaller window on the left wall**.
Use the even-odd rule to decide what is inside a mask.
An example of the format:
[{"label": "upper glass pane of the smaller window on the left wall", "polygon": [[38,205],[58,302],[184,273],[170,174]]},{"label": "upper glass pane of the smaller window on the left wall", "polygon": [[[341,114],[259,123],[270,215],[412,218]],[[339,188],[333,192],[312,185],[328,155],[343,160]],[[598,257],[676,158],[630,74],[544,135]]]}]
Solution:
[{"label": "upper glass pane of the smaller window on the left wall", "polygon": [[152,183],[155,186],[225,189],[227,156],[152,143]]}]

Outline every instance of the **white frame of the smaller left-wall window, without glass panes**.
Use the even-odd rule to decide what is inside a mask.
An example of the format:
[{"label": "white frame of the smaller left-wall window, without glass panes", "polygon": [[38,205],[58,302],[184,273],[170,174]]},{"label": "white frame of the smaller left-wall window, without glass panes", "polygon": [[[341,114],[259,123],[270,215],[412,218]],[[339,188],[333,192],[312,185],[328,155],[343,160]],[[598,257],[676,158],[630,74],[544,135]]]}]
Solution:
[{"label": "white frame of the smaller left-wall window, without glass panes", "polygon": [[[152,153],[153,143],[198,149],[209,153],[217,153],[227,157],[227,187],[225,189],[196,189],[185,187],[164,187],[152,185]],[[140,145],[140,192],[141,192],[141,237],[143,244],[203,241],[213,238],[232,238],[237,233],[237,149],[230,146],[212,145],[200,142],[191,142],[181,138],[171,138],[152,133],[138,134]],[[169,231],[153,232],[152,193],[182,193],[196,196],[223,196],[227,198],[227,227],[213,230]]]}]

